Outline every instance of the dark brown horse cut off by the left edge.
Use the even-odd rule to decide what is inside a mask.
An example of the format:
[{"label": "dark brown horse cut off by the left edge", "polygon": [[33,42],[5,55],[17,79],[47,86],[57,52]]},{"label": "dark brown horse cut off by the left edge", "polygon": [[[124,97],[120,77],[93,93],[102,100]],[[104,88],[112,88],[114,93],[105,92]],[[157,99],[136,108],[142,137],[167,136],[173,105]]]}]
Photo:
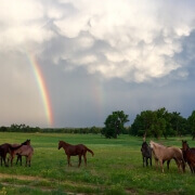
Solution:
[{"label": "dark brown horse cut off by the left edge", "polygon": [[4,144],[0,145],[1,167],[2,167],[2,161],[4,161],[5,167],[9,167],[9,165],[6,164],[6,154],[14,152],[14,151],[21,148],[22,146],[23,145],[21,144],[21,145],[13,147],[9,143],[4,143]]}]

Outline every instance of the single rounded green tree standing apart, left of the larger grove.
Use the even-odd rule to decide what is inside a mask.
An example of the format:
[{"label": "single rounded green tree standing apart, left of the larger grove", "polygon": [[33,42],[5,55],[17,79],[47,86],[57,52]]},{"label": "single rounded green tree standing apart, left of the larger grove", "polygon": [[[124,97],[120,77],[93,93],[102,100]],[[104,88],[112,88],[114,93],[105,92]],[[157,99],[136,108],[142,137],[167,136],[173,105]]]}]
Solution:
[{"label": "single rounded green tree standing apart, left of the larger grove", "polygon": [[117,138],[123,131],[123,125],[128,122],[128,115],[123,110],[113,112],[112,115],[108,115],[104,125],[105,127],[102,130],[102,134],[106,138]]}]

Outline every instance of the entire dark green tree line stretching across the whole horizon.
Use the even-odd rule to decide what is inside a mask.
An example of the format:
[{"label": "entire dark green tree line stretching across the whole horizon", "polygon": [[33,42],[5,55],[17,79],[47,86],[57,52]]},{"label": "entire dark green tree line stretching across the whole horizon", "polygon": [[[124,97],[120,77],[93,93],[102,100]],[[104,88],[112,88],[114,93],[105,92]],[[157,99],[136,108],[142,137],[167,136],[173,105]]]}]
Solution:
[{"label": "entire dark green tree line stretching across the whole horizon", "polygon": [[136,115],[131,126],[126,127],[129,121],[123,110],[116,110],[108,115],[104,127],[90,128],[32,128],[22,125],[0,127],[1,132],[60,132],[60,133],[101,133],[105,138],[117,138],[119,134],[131,134],[136,136],[182,136],[192,135],[195,140],[195,110],[191,116],[184,118],[178,112],[168,112],[165,107],[156,110],[143,110]]}]

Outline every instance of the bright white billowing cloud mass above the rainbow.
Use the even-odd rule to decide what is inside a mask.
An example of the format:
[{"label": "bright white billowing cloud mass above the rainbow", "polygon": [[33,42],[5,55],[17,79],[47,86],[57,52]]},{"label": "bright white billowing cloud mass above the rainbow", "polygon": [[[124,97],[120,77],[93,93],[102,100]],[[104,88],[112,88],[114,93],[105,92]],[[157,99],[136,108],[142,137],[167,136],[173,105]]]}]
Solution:
[{"label": "bright white billowing cloud mass above the rainbow", "polygon": [[0,50],[41,46],[43,51],[46,42],[66,38],[62,41],[66,46],[68,40],[68,50],[62,47],[51,58],[55,64],[65,61],[66,70],[81,66],[105,78],[144,82],[181,68],[174,55],[195,28],[191,3],[3,0]]}]

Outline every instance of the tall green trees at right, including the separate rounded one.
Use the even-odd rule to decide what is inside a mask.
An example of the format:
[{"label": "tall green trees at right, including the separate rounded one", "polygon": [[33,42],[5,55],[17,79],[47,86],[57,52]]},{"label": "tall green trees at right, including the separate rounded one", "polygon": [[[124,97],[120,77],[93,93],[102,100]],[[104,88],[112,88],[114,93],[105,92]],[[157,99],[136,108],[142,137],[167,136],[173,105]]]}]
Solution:
[{"label": "tall green trees at right, including the separate rounded one", "polygon": [[106,138],[117,138],[117,135],[129,131],[129,134],[136,136],[182,136],[192,135],[195,140],[195,110],[188,118],[184,118],[180,113],[168,112],[165,107],[156,110],[143,110],[136,115],[131,127],[128,129],[125,123],[128,122],[128,115],[123,110],[113,112],[104,125],[102,133]]}]

